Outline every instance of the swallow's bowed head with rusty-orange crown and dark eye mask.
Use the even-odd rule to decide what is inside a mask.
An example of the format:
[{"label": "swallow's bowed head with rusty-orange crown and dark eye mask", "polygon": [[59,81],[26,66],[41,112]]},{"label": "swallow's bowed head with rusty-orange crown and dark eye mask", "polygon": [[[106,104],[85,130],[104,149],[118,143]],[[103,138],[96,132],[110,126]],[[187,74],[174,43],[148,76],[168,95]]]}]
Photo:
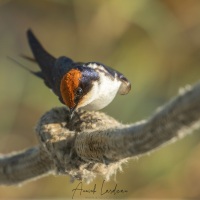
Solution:
[{"label": "swallow's bowed head with rusty-orange crown and dark eye mask", "polygon": [[63,76],[60,83],[60,92],[71,116],[77,108],[93,101],[96,92],[94,85],[98,79],[98,73],[84,66],[84,64],[73,67]]}]

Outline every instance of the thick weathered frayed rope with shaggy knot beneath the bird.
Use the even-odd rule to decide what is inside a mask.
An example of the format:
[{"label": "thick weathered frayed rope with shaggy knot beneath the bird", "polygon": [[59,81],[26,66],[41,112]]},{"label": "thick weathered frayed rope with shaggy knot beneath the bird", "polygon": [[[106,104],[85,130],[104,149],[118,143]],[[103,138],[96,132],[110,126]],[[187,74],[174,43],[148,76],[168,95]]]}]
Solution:
[{"label": "thick weathered frayed rope with shaggy knot beneath the bird", "polygon": [[92,181],[109,179],[128,158],[176,141],[200,127],[200,83],[182,89],[147,120],[123,125],[101,112],[79,111],[68,120],[65,107],[39,121],[40,146],[0,157],[0,184],[16,184],[49,173]]}]

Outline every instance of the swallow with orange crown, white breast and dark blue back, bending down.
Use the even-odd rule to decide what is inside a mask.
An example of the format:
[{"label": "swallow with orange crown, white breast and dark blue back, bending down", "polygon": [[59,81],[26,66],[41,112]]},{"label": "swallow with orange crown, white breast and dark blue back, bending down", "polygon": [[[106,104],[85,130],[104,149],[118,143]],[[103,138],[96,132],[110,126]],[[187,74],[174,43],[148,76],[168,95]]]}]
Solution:
[{"label": "swallow with orange crown, white breast and dark blue back, bending down", "polygon": [[31,73],[44,80],[60,102],[69,108],[71,116],[78,108],[100,110],[111,103],[117,93],[129,93],[131,83],[111,67],[99,62],[74,62],[66,56],[55,58],[30,29],[27,38],[34,59],[26,58],[35,60],[40,67],[40,71]]}]

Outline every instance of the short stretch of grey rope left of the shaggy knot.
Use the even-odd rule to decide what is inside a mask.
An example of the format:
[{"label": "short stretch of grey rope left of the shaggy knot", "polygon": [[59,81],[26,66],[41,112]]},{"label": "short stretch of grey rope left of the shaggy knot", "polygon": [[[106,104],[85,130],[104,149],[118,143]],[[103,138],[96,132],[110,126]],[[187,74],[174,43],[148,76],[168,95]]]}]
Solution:
[{"label": "short stretch of grey rope left of the shaggy knot", "polygon": [[0,183],[16,184],[52,173],[53,162],[39,147],[0,157]]}]

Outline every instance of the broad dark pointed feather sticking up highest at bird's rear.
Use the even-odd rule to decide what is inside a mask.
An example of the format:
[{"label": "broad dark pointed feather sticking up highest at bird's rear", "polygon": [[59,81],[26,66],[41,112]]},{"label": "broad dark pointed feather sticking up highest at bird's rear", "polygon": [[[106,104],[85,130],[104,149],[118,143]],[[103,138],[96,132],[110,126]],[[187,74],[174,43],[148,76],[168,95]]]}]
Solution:
[{"label": "broad dark pointed feather sticking up highest at bird's rear", "polygon": [[54,67],[56,59],[43,48],[30,29],[27,31],[27,37],[36,62],[42,72],[48,74],[49,70]]}]

